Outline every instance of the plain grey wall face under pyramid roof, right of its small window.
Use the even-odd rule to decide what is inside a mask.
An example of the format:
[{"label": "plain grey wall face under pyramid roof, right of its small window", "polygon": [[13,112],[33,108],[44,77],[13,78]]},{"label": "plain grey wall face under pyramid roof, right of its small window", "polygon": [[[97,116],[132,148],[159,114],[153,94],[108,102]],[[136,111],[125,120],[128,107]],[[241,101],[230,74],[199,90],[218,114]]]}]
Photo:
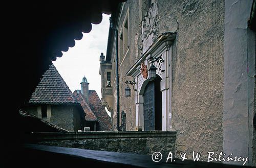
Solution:
[{"label": "plain grey wall face under pyramid roof, right of its small window", "polygon": [[73,106],[53,105],[51,123],[69,131],[74,131]]}]

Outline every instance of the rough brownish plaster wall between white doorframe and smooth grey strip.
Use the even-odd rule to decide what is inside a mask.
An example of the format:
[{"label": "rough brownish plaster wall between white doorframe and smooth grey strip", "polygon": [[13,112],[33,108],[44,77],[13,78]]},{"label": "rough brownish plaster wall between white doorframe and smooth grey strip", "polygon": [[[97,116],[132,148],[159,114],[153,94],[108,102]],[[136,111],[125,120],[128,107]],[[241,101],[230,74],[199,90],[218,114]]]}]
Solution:
[{"label": "rough brownish plaster wall between white doorframe and smooth grey strip", "polygon": [[[220,153],[223,113],[224,1],[157,1],[159,34],[176,31],[172,128],[176,156]],[[188,155],[191,159],[191,155]]]}]

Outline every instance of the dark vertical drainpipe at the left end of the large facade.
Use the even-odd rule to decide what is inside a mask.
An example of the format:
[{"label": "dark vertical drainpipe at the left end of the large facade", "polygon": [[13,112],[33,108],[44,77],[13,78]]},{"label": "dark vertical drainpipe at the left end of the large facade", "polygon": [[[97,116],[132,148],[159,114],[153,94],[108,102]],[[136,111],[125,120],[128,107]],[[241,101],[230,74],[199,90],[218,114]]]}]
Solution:
[{"label": "dark vertical drainpipe at the left end of the large facade", "polygon": [[117,130],[119,131],[119,75],[118,75],[118,31],[113,26],[112,18],[110,17],[111,29],[115,31],[116,36],[116,110],[117,110]]}]

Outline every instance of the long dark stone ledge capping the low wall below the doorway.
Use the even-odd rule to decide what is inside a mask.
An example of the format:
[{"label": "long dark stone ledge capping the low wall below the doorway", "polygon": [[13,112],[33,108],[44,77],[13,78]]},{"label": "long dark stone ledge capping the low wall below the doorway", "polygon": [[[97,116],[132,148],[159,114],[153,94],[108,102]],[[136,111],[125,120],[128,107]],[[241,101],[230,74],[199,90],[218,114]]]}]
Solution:
[{"label": "long dark stone ledge capping the low wall below the doorway", "polygon": [[37,132],[25,133],[25,141],[175,137],[176,131],[91,131],[91,132]]}]

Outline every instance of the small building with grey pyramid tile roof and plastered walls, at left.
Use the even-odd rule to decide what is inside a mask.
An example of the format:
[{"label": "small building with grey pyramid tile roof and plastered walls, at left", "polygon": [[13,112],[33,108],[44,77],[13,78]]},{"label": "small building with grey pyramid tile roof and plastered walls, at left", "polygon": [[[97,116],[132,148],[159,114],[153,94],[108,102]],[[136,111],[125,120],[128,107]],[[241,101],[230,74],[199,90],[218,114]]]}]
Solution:
[{"label": "small building with grey pyramid tile roof and plastered walls, at left", "polygon": [[53,64],[42,76],[25,111],[68,131],[84,127],[86,113]]}]

